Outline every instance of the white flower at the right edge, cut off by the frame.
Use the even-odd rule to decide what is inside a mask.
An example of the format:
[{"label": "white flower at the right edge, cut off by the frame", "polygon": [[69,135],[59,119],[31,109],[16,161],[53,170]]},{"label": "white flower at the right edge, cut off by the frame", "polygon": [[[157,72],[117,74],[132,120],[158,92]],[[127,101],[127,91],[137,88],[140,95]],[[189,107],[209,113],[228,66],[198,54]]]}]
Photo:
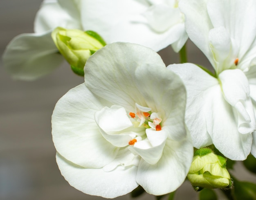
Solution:
[{"label": "white flower at the right edge, cut off by the frame", "polygon": [[180,9],[190,39],[216,72],[170,67],[186,85],[194,146],[213,143],[232,160],[244,160],[251,149],[256,156],[256,1],[182,0]]}]

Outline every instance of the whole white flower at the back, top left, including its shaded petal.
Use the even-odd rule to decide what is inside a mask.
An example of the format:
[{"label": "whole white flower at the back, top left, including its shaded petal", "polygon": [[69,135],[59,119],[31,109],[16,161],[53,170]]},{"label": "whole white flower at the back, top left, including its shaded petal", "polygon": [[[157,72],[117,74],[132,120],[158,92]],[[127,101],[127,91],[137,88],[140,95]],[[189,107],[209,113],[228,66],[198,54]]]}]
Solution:
[{"label": "whole white flower at the back, top left, including its shaded petal", "polygon": [[51,73],[63,57],[51,32],[65,29],[96,31],[106,43],[132,42],[156,51],[186,42],[184,16],[177,0],[44,0],[36,14],[35,33],[15,37],[7,46],[3,63],[14,79],[34,80]]}]

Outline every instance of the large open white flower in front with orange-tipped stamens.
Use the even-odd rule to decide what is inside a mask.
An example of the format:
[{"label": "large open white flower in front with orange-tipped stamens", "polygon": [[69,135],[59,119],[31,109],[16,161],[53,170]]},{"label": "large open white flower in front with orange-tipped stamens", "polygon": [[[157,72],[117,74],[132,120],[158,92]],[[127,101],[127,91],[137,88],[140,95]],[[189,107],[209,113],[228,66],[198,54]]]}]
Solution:
[{"label": "large open white flower in front with orange-tipped stamens", "polygon": [[154,195],[176,190],[193,157],[180,78],[153,50],[130,43],[103,47],[84,70],[85,84],[67,92],[52,115],[61,174],[105,198],[138,185]]}]

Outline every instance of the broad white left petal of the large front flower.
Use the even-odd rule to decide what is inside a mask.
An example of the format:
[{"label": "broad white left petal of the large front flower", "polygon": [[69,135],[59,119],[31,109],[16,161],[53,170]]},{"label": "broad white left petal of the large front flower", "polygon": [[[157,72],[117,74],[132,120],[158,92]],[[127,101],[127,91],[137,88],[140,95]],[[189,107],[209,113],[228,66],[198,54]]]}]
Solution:
[{"label": "broad white left petal of the large front flower", "polygon": [[[118,148],[106,142],[94,121],[103,99],[94,97],[84,84],[71,89],[52,114],[52,137],[56,150],[72,163],[98,168],[110,163]],[[108,105],[108,102],[103,101]]]}]

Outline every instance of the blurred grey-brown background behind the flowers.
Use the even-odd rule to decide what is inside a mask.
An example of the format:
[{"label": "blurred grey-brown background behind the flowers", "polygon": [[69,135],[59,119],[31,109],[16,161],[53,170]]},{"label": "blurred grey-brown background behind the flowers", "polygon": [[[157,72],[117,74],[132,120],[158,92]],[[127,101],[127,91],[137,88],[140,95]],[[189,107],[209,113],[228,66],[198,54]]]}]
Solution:
[{"label": "blurred grey-brown background behind the flowers", "polygon": [[[33,33],[40,3],[41,0],[0,0],[0,55],[16,35]],[[210,66],[191,42],[187,50],[189,62]],[[166,65],[179,62],[179,56],[170,47],[159,54]],[[0,65],[0,200],[102,200],[74,189],[64,180],[55,162],[52,143],[54,106],[83,78],[74,75],[63,63],[54,73],[39,80],[14,81],[2,68],[2,60]],[[240,180],[256,182],[256,176],[246,172],[240,162],[233,173]],[[128,194],[116,199],[132,198]],[[155,197],[144,194],[137,199]],[[175,196],[175,200],[183,199],[197,199],[188,182]]]}]

